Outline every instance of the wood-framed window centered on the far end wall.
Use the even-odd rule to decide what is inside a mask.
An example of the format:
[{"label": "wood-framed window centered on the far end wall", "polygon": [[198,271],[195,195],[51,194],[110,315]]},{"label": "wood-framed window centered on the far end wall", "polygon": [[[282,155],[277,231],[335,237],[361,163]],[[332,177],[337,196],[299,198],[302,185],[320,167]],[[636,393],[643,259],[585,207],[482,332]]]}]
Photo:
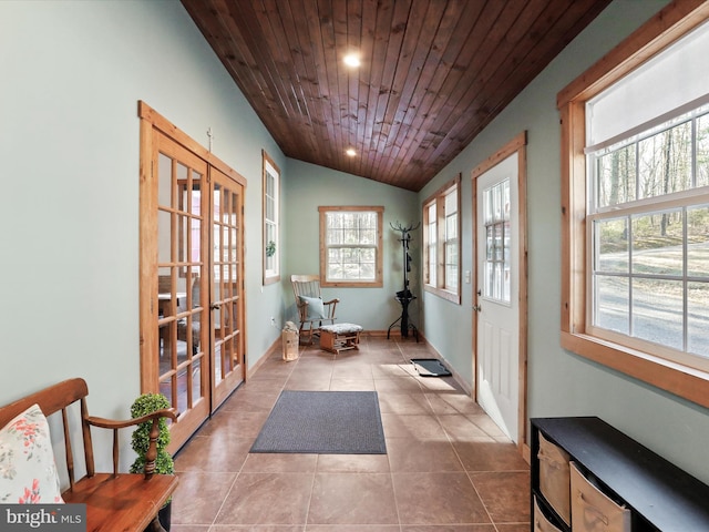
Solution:
[{"label": "wood-framed window centered on the far end wall", "polygon": [[319,207],[320,284],[382,286],[384,207]]}]

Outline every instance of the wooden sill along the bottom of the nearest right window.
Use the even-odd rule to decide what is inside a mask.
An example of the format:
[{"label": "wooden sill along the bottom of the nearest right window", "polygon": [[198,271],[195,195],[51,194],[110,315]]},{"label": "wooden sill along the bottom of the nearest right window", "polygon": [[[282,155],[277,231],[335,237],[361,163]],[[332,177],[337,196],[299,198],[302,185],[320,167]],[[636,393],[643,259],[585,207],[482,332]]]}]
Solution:
[{"label": "wooden sill along the bottom of the nearest right window", "polygon": [[562,347],[709,408],[709,372],[583,334],[562,331]]}]

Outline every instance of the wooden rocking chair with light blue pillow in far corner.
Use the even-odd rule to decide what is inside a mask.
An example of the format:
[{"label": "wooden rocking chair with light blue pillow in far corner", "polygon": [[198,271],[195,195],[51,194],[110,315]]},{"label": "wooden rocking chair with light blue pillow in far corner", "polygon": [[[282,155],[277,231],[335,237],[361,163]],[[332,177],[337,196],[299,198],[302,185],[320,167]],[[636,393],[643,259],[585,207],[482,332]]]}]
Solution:
[{"label": "wooden rocking chair with light blue pillow in far corner", "polygon": [[329,301],[322,300],[320,277],[317,275],[291,275],[290,283],[296,296],[300,337],[307,334],[307,342],[310,345],[312,337],[319,335],[318,331],[322,324],[335,324],[335,309],[340,300],[338,298]]}]

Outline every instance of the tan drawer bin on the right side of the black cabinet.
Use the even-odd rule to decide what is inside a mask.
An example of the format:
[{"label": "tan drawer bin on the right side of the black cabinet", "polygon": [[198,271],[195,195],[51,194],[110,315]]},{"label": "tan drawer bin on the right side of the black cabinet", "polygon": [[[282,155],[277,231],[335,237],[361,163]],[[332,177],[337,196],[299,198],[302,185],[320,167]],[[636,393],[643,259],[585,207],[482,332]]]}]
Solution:
[{"label": "tan drawer bin on the right side of the black cabinet", "polygon": [[572,531],[630,532],[630,510],[617,504],[571,463]]}]

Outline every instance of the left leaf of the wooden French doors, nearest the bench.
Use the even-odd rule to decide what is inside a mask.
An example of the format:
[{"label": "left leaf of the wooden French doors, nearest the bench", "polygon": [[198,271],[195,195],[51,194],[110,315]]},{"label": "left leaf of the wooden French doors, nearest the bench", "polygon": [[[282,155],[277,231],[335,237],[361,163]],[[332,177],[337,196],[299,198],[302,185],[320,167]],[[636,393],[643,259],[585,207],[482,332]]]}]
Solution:
[{"label": "left leaf of the wooden French doors, nearest the bench", "polygon": [[[157,341],[144,346],[143,362],[157,369],[147,389],[157,390],[179,412],[172,427],[172,439],[186,441],[209,416],[209,352],[207,313],[208,239],[204,227],[208,192],[205,161],[167,136],[155,134],[157,161],[157,284],[154,297],[157,314],[146,324],[157,328]],[[145,243],[143,243],[145,245]],[[146,349],[153,347],[154,349]],[[156,378],[155,378],[156,377]],[[184,440],[184,441],[183,441]]]}]

